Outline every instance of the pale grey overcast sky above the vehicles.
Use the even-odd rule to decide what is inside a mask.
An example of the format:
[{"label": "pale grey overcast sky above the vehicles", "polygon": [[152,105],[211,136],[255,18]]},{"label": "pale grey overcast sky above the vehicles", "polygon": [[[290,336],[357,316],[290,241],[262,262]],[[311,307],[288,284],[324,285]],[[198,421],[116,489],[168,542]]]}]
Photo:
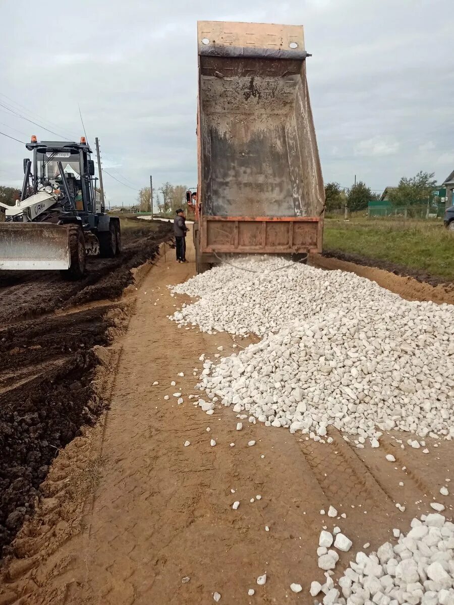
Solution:
[{"label": "pale grey overcast sky above the vehicles", "polygon": [[[449,0],[2,2],[0,131],[98,136],[111,204],[164,181],[195,186],[198,19],[303,24],[324,181],[372,189],[454,169]],[[20,186],[24,145],[0,135],[0,184]]]}]

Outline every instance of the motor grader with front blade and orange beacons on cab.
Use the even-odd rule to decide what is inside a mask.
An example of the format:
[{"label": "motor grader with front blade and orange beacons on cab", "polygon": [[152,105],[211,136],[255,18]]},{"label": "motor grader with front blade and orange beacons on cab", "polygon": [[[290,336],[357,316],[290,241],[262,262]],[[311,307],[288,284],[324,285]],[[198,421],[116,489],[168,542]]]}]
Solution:
[{"label": "motor grader with front blade and orange beacons on cab", "polygon": [[114,257],[121,250],[120,220],[105,212],[96,189],[94,162],[81,142],[38,141],[25,145],[21,197],[0,203],[0,270],[59,270],[79,280],[87,255]]}]

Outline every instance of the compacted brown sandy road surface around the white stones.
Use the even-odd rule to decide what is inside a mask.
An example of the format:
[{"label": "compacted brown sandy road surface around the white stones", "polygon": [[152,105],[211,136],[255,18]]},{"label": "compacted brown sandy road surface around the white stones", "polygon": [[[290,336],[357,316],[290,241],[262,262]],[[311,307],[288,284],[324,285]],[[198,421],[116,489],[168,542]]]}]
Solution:
[{"label": "compacted brown sandy road surface around the white stones", "polygon": [[[332,428],[334,443],[320,445],[247,420],[236,431],[231,409],[219,407],[207,416],[194,408],[188,395],[195,392],[192,372],[202,368],[200,354],[212,356],[221,344],[223,355],[234,349],[227,334],[185,330],[166,317],[185,301],[171,297],[166,286],[192,275],[193,253],[189,258],[176,264],[167,251],[143,280],[119,341],[120,358],[111,367],[110,410],[64,450],[73,466],[97,460],[93,498],[68,518],[54,518],[57,526],[70,526],[58,548],[49,548],[52,537],[46,548],[36,546],[39,528],[49,525],[45,512],[28,528],[28,538],[19,537],[22,558],[4,575],[9,600],[0,603],[205,605],[214,602],[215,591],[225,604],[313,603],[308,588],[323,579],[316,555],[323,526],[340,526],[354,541],[352,552],[366,542],[376,549],[392,540],[392,528],[407,530],[445,479],[454,478],[448,442],[426,455],[400,450],[383,437],[378,450],[360,451]],[[182,405],[173,396],[178,392]],[[248,447],[251,439],[256,444]],[[186,440],[191,445],[185,447]],[[386,462],[387,453],[395,463]],[[61,464],[62,455],[54,463],[54,483],[71,477],[71,464]],[[58,497],[58,489],[51,489]],[[404,513],[396,502],[406,506]],[[346,518],[320,515],[329,505]],[[61,535],[58,527],[54,533]],[[338,571],[350,557],[342,555]],[[266,585],[257,586],[264,572]],[[183,583],[185,577],[190,579]],[[293,582],[303,592],[292,593]],[[248,597],[249,588],[254,597]]]}]

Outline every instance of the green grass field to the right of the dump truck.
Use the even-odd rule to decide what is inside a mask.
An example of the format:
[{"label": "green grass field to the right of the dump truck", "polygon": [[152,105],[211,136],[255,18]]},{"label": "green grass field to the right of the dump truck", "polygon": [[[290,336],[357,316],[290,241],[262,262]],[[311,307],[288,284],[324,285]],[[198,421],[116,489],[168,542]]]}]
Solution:
[{"label": "green grass field to the right of the dump truck", "polygon": [[441,221],[327,219],[324,250],[360,254],[454,280],[454,234]]}]

